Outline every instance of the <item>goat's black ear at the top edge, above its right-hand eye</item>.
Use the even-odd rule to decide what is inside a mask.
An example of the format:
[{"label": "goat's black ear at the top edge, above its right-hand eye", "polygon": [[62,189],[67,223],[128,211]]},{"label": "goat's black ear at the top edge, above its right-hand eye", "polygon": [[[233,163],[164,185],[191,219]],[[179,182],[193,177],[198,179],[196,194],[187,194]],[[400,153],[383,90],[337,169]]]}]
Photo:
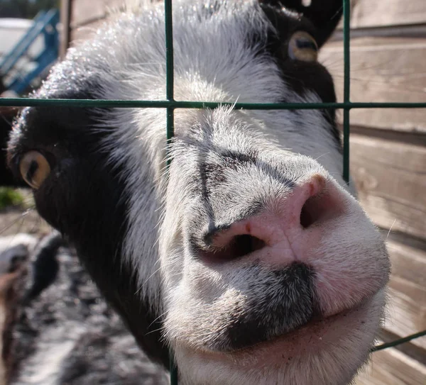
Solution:
[{"label": "goat's black ear at the top edge, above its right-hand eye", "polygon": [[343,13],[343,0],[260,0],[260,2],[302,13],[315,26],[319,47],[332,35]]}]

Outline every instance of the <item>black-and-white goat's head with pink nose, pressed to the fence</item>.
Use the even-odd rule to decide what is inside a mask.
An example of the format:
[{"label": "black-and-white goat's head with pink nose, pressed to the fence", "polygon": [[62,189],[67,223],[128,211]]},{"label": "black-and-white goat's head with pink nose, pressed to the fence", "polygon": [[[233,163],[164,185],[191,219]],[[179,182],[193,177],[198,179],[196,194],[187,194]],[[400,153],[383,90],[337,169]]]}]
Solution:
[{"label": "black-and-white goat's head with pink nose, pressed to the fence", "polygon": [[[317,49],[341,0],[173,5],[175,99],[335,101]],[[165,99],[163,19],[162,5],[116,15],[35,97]],[[342,179],[334,111],[177,109],[168,171],[165,133],[157,108],[26,108],[9,164],[184,384],[351,381],[389,262]]]}]

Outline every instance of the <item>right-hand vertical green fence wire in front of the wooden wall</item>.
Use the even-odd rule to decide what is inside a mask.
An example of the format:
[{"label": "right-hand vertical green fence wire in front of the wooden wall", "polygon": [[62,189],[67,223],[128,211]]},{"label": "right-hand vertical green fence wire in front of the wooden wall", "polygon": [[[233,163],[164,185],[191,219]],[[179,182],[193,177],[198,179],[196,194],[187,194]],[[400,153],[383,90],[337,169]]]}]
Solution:
[{"label": "right-hand vertical green fence wire in front of the wooden wall", "polygon": [[343,43],[344,43],[344,89],[343,102],[343,179],[349,184],[349,115],[350,115],[350,97],[351,97],[351,3],[350,0],[343,1]]}]

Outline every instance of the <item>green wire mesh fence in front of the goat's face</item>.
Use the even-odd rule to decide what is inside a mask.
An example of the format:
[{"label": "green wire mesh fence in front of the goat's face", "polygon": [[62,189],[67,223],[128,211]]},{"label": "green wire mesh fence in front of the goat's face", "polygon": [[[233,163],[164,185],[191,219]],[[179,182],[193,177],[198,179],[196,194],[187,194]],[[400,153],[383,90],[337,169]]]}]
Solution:
[{"label": "green wire mesh fence in front of the goat's face", "polygon": [[[217,106],[231,106],[234,109],[246,110],[287,110],[287,109],[320,109],[337,108],[343,110],[343,177],[349,183],[349,113],[352,108],[426,108],[426,103],[367,103],[351,102],[350,100],[350,0],[343,0],[344,17],[344,100],[343,103],[278,103],[278,104],[250,104],[250,103],[221,103],[175,101],[174,99],[174,66],[173,66],[173,13],[172,0],[165,0],[165,47],[166,47],[166,100],[92,100],[92,99],[29,99],[4,98],[0,99],[0,106],[72,106],[72,107],[121,107],[121,108],[165,108],[167,111],[167,142],[171,143],[174,135],[175,108],[216,108]],[[168,160],[168,164],[170,160]],[[426,330],[400,338],[393,342],[377,345],[371,352],[386,349],[408,342],[426,335]],[[173,363],[173,353],[170,354],[170,384],[178,384],[178,369]]]}]

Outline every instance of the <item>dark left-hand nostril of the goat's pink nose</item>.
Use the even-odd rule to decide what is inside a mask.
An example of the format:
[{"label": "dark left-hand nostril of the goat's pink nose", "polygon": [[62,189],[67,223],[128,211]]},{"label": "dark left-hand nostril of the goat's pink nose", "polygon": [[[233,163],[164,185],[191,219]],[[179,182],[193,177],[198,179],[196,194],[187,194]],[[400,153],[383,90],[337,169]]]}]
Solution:
[{"label": "dark left-hand nostril of the goat's pink nose", "polygon": [[263,240],[253,237],[253,235],[241,234],[231,238],[227,245],[220,248],[209,247],[209,250],[202,250],[201,254],[203,260],[223,262],[249,255],[256,250],[261,250],[265,245]]}]

